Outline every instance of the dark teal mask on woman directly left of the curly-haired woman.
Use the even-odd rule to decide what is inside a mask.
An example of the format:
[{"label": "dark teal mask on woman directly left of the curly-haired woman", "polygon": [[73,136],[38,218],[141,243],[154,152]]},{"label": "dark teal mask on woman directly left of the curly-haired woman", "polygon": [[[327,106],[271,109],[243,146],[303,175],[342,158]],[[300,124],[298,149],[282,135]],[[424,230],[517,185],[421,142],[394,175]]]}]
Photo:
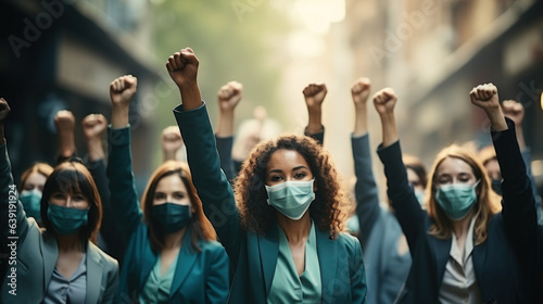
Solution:
[{"label": "dark teal mask on woman directly left of the curly-haired woman", "polygon": [[151,216],[164,232],[172,233],[187,226],[192,213],[189,205],[164,203],[153,205]]}]

